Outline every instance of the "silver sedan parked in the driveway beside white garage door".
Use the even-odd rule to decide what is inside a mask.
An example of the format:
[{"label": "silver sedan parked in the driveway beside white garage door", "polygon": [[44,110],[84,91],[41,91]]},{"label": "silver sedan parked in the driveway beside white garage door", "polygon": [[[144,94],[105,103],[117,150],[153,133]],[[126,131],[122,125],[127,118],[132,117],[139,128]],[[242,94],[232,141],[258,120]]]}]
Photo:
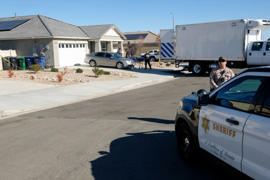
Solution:
[{"label": "silver sedan parked in the driveway beside white garage door", "polygon": [[118,69],[124,67],[134,67],[135,62],[132,59],[124,58],[116,52],[94,52],[86,54],[84,62],[90,64],[91,67],[95,66],[113,66]]}]

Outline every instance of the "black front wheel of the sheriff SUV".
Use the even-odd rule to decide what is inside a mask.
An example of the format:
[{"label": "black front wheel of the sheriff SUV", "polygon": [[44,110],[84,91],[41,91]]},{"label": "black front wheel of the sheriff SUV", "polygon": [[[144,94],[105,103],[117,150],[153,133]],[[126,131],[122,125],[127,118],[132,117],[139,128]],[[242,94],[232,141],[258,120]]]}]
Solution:
[{"label": "black front wheel of the sheriff SUV", "polygon": [[181,123],[176,131],[177,146],[181,158],[190,162],[196,158],[195,141],[193,140],[189,126]]}]

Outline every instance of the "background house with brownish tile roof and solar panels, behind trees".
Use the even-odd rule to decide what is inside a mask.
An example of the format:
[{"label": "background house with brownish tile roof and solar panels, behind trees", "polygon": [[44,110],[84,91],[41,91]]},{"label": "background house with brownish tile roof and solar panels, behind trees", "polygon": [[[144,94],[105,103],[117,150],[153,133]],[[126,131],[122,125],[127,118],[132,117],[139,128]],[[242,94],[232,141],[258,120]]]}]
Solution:
[{"label": "background house with brownish tile roof and solar panels, behind trees", "polygon": [[[138,44],[140,40],[140,36],[143,39],[143,47],[137,50],[136,56],[139,56],[140,53],[145,53],[146,51],[152,49],[159,49],[159,46],[156,42],[158,38],[158,34],[150,31],[137,31],[137,32],[124,32],[123,33],[127,38],[123,42],[124,49],[128,46],[128,41],[131,44]],[[125,52],[126,53],[126,52]]]}]

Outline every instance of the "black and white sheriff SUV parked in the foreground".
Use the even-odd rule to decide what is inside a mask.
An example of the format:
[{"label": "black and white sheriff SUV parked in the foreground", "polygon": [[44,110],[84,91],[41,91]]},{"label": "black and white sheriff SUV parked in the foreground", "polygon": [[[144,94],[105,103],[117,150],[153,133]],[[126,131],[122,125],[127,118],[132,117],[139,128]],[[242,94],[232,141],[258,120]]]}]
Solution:
[{"label": "black and white sheriff SUV parked in the foreground", "polygon": [[200,89],[183,97],[175,118],[182,159],[210,155],[235,172],[270,179],[269,91],[265,66],[244,70],[211,93]]}]

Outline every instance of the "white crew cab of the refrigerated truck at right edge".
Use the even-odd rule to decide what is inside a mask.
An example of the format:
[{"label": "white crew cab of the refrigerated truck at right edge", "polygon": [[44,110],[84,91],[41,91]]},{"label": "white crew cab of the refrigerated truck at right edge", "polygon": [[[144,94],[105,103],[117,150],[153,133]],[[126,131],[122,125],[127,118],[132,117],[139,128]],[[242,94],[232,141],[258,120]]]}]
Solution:
[{"label": "white crew cab of the refrigerated truck at right edge", "polygon": [[252,41],[247,49],[247,66],[270,65],[270,39]]}]

